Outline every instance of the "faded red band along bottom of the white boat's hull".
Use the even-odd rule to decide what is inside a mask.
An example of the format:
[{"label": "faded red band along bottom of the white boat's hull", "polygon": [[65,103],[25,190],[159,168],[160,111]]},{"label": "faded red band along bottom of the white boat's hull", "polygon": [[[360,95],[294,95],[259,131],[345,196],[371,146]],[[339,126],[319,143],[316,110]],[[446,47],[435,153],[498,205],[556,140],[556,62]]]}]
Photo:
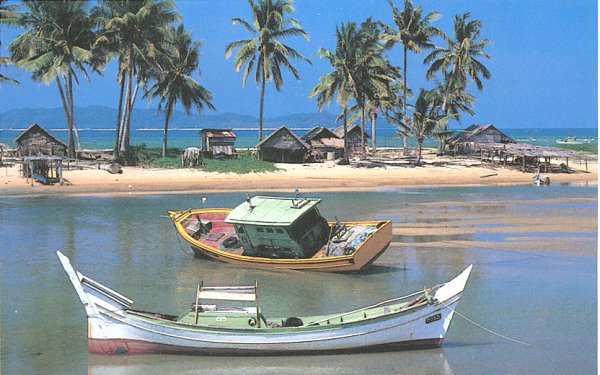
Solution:
[{"label": "faded red band along bottom of the white boat's hull", "polygon": [[207,354],[207,355],[309,355],[309,354],[333,354],[333,353],[365,353],[373,351],[399,351],[434,349],[442,346],[443,338],[411,340],[395,342],[390,344],[373,345],[368,347],[336,350],[253,350],[253,349],[210,349],[190,348],[174,345],[151,343],[141,340],[128,339],[88,339],[88,350],[94,354],[142,354],[142,353],[165,353],[165,354]]}]

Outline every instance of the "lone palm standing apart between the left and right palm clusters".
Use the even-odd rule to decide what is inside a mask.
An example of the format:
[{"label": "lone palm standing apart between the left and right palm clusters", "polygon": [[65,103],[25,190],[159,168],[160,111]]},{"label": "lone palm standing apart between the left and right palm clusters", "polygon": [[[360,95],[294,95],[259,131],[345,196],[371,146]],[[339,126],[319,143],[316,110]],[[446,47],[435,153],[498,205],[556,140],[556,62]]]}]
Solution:
[{"label": "lone palm standing apart between the left and right palm clusters", "polygon": [[252,22],[241,18],[233,18],[234,24],[242,25],[252,34],[250,39],[237,40],[225,47],[225,58],[229,58],[234,50],[235,70],[239,72],[244,67],[242,85],[246,84],[248,74],[256,66],[254,79],[260,83],[260,109],[258,119],[258,141],[262,141],[263,109],[265,100],[265,85],[269,80],[275,83],[275,89],[281,91],[283,78],[281,67],[300,79],[298,71],[290,62],[290,58],[310,61],[301,53],[280,40],[289,36],[303,36],[308,40],[308,34],[302,29],[300,21],[286,18],[287,13],[294,11],[292,0],[248,0],[252,10]]}]

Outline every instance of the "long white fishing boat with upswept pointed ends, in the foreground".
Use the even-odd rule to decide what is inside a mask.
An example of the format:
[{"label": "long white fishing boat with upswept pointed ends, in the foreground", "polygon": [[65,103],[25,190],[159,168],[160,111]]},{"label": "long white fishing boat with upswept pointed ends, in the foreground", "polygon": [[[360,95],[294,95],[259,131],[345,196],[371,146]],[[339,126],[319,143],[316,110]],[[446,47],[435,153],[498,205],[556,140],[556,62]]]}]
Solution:
[{"label": "long white fishing boat with upswept pointed ends, in the foreground", "polygon": [[406,296],[349,312],[303,317],[265,316],[256,282],[236,287],[200,284],[192,306],[181,315],[169,315],[133,309],[131,299],[75,271],[66,256],[57,255],[87,314],[88,350],[101,354],[291,355],[437,348],[472,269],[468,266],[447,283]]}]

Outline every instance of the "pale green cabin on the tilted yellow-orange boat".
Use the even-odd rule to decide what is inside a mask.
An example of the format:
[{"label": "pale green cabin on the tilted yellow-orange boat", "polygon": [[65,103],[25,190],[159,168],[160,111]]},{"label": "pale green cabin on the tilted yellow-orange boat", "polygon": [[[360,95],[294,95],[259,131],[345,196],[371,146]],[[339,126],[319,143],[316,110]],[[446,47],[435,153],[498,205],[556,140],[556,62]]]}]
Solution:
[{"label": "pale green cabin on the tilted yellow-orange boat", "polygon": [[309,258],[327,243],[329,224],[316,198],[248,197],[225,218],[244,255]]}]

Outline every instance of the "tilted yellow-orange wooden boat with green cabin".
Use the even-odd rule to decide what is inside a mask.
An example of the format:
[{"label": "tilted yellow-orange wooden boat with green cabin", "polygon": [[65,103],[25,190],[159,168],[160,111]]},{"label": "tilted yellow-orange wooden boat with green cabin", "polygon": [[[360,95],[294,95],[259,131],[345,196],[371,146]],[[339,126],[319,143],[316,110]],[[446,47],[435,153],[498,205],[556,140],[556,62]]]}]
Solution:
[{"label": "tilted yellow-orange wooden boat with green cabin", "polygon": [[252,267],[359,271],[392,239],[390,220],[329,223],[315,198],[248,197],[236,208],[169,211],[197,257]]}]

